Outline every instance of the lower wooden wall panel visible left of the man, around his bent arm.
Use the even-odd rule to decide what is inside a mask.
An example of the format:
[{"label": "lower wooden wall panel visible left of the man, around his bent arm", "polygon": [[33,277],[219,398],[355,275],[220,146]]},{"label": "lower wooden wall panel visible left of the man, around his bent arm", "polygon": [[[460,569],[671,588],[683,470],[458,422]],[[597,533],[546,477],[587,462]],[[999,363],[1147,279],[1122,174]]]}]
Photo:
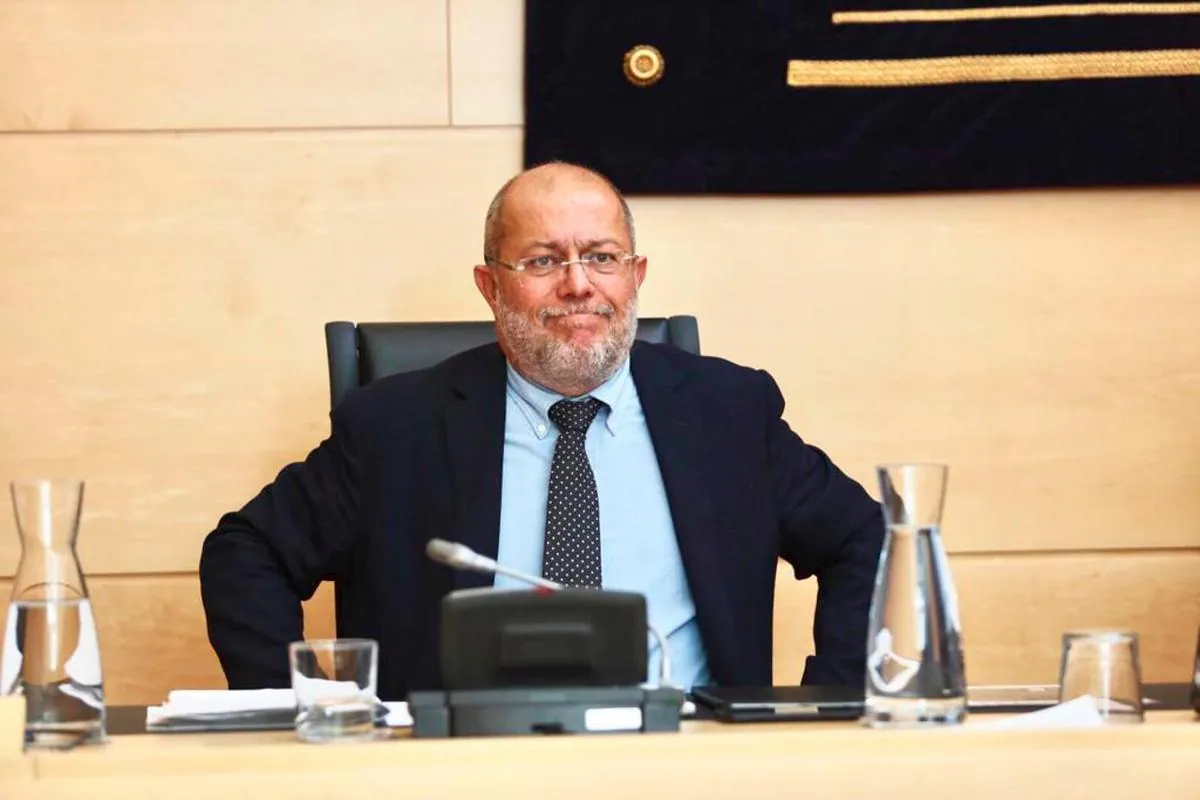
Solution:
[{"label": "lower wooden wall panel visible left of the man, around his bent arm", "polygon": [[[89,582],[104,694],[113,705],[157,704],[173,688],[224,688],[194,575],[97,576]],[[0,579],[0,631],[12,582]],[[305,638],[334,636],[334,593],[305,603]]]}]

